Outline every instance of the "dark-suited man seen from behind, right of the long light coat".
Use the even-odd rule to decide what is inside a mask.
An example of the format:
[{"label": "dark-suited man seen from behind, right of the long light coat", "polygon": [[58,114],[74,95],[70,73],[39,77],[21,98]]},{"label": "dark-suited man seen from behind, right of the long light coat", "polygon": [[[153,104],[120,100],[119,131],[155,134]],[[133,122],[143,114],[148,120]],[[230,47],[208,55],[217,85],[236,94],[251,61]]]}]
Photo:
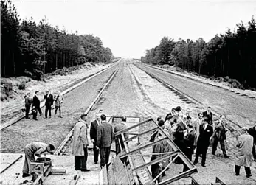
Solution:
[{"label": "dark-suited man seen from behind, right of the long light coat", "polygon": [[104,167],[108,164],[114,132],[112,125],[105,121],[105,114],[102,114],[100,119],[101,124],[97,127],[97,150],[100,150],[100,167]]}]

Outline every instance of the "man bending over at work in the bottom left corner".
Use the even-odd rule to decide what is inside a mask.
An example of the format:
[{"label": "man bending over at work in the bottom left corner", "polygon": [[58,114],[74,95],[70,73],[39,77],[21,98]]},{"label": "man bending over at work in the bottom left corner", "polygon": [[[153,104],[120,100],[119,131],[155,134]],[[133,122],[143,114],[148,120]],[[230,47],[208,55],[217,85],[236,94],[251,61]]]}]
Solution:
[{"label": "man bending over at work in the bottom left corner", "polygon": [[31,175],[30,163],[35,162],[35,156],[40,157],[42,153],[52,153],[53,150],[55,150],[55,147],[52,144],[46,144],[44,142],[32,142],[27,144],[24,148],[25,161],[23,165],[22,177],[25,178]]}]

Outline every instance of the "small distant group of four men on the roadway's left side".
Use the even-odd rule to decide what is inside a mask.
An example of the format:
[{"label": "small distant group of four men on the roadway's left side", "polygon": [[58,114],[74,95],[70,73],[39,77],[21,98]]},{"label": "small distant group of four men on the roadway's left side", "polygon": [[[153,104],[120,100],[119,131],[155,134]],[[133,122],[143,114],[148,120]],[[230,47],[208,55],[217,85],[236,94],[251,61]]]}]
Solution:
[{"label": "small distant group of four men on the roadway's left side", "polygon": [[[24,98],[25,98],[25,118],[30,119],[29,113],[30,113],[30,108],[32,112],[32,119],[38,120],[37,116],[38,113],[40,116],[42,115],[41,107],[40,107],[40,99],[38,97],[39,91],[35,91],[34,97],[30,97],[30,93],[28,92]],[[57,114],[57,111],[59,110],[59,117],[62,118],[61,116],[61,107],[63,104],[63,95],[58,91],[57,94],[54,96],[50,93],[50,91],[46,91],[46,94],[44,95],[44,100],[45,100],[45,116],[44,118],[47,118],[49,115],[49,118],[52,116],[52,106],[53,103],[55,102],[55,116]]]}]

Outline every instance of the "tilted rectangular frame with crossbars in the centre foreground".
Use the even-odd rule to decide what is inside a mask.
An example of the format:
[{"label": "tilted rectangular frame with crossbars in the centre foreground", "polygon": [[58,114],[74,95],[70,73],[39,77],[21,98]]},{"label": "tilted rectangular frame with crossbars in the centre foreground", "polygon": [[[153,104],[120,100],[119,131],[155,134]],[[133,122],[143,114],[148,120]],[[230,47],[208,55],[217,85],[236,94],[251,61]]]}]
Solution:
[{"label": "tilted rectangular frame with crossbars in the centre foreground", "polygon": [[[139,128],[142,127],[142,125],[149,125],[149,124],[153,124],[154,128],[151,128],[149,130],[146,130],[143,133],[138,133],[135,136],[131,136],[128,139],[125,139],[124,137],[124,133],[129,132],[129,130],[134,129],[134,128]],[[128,142],[130,142],[132,139],[136,139],[137,137],[146,137],[147,135],[151,135],[151,133],[154,132],[159,132],[163,137],[162,139],[159,139],[156,142],[151,142],[151,143],[142,143],[139,144],[141,146],[136,146],[135,149],[131,149],[128,145]],[[120,136],[122,140],[120,139]],[[168,167],[170,167],[170,164],[173,163],[173,161],[176,160],[176,158],[181,158],[181,160],[183,161],[184,164],[187,165],[187,167],[189,168],[189,170],[187,170],[186,172],[182,172],[179,175],[175,175],[171,178],[166,179],[165,181],[161,181],[158,184],[170,184],[173,181],[177,181],[181,178],[186,177],[187,175],[190,175],[192,173],[198,172],[196,167],[193,165],[193,163],[184,155],[184,153],[181,152],[181,150],[179,150],[179,147],[176,146],[176,144],[173,143],[173,141],[166,135],[166,133],[162,130],[162,128],[160,128],[156,122],[152,119],[149,118],[143,122],[139,122],[136,125],[133,125],[129,128],[120,130],[119,132],[115,133],[115,136],[119,136],[117,137],[118,139],[118,143],[120,145],[121,148],[121,152],[120,154],[118,154],[118,157],[122,160],[122,159],[127,159],[128,164],[131,165],[131,170],[127,171],[128,173],[131,173],[129,176],[132,176],[134,179],[133,181],[135,182],[136,185],[139,184],[156,184],[156,179],[159,178],[160,175],[162,175],[163,172],[165,172]],[[148,138],[149,141],[150,138]],[[123,144],[121,144],[121,142],[123,142]],[[153,161],[148,161],[147,163],[145,162],[145,159],[142,156],[147,156],[148,154],[143,154],[141,153],[142,150],[147,150],[147,148],[151,148],[153,147],[153,145],[159,144],[161,142],[165,142],[165,144],[168,144],[169,147],[171,147],[171,152],[169,153],[165,153],[165,155],[154,159]],[[124,146],[124,147],[122,147]],[[140,157],[140,164],[138,164],[137,161],[134,161],[132,157],[136,157],[139,158]],[[149,156],[149,155],[148,155]],[[152,178],[151,172],[149,172],[149,168],[152,164],[156,164],[159,163],[160,161],[163,160],[169,160],[169,158],[172,158],[169,162],[169,164],[167,164],[166,167],[164,167],[164,169],[159,173],[159,175],[156,176],[156,178]],[[130,181],[131,182],[131,181]],[[117,183],[118,184],[118,183]]]}]

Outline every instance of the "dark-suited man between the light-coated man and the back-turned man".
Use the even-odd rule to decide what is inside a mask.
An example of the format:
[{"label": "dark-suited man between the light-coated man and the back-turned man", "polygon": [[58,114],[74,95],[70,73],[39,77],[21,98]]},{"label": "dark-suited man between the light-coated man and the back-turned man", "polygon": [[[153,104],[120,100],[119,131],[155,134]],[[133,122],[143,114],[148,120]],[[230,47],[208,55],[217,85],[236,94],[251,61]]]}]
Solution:
[{"label": "dark-suited man between the light-coated man and the back-turned man", "polygon": [[90,129],[90,137],[91,142],[93,143],[93,150],[94,150],[94,164],[98,163],[99,158],[99,150],[96,148],[97,144],[97,128],[100,125],[100,114],[96,114],[96,119],[91,122],[91,129]]}]

